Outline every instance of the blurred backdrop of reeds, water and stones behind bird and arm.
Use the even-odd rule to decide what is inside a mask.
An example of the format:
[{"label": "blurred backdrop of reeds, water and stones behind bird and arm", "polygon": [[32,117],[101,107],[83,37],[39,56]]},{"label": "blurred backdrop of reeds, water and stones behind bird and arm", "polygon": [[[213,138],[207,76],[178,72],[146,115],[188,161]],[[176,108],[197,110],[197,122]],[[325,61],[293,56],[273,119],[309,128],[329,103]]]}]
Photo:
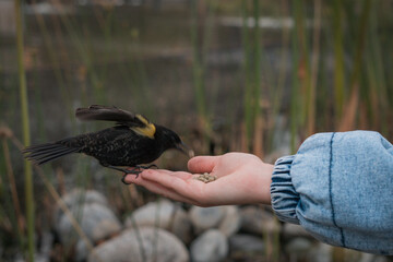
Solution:
[{"label": "blurred backdrop of reeds, water and stones behind bird and arm", "polygon": [[[90,157],[37,168],[20,151],[108,127],[75,120],[92,104],[143,114],[198,155],[274,163],[315,132],[355,129],[393,141],[392,11],[391,0],[0,0],[1,261],[389,261],[322,245],[266,206],[175,203]],[[187,158],[156,164],[184,170]]]}]

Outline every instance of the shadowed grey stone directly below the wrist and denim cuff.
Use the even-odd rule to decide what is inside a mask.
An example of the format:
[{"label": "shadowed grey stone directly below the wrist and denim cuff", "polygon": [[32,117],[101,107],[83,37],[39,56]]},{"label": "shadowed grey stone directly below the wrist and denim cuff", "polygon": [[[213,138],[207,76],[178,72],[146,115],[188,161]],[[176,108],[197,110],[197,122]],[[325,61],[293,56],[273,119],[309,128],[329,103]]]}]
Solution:
[{"label": "shadowed grey stone directly below the wrist and denim cuff", "polygon": [[249,205],[240,209],[241,230],[255,235],[277,233],[278,221],[262,207]]}]

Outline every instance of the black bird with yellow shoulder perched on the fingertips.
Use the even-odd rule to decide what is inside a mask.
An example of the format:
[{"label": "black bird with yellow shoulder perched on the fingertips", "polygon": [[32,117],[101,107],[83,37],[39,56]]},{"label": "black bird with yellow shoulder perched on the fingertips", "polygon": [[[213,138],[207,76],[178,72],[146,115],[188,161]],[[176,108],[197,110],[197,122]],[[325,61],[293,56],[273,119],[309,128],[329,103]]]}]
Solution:
[{"label": "black bird with yellow shoulder perched on the fingertips", "polygon": [[153,123],[140,114],[115,106],[92,105],[78,108],[75,117],[82,121],[102,120],[115,124],[97,132],[27,146],[22,151],[24,157],[43,165],[72,153],[83,153],[96,158],[104,167],[124,172],[121,181],[129,184],[126,182],[127,175],[132,174],[138,178],[143,169],[157,167],[146,164],[157,159],[167,150],[175,148],[189,157],[193,156],[193,151],[175,131]]}]

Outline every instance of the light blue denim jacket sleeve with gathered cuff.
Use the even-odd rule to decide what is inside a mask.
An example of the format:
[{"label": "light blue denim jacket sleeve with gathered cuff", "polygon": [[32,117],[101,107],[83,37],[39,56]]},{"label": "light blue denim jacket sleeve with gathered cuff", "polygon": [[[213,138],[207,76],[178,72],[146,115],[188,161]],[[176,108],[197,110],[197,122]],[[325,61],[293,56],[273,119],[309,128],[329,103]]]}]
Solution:
[{"label": "light blue denim jacket sleeve with gathered cuff", "polygon": [[276,162],[271,195],[281,221],[323,242],[393,254],[393,146],[377,132],[310,136]]}]

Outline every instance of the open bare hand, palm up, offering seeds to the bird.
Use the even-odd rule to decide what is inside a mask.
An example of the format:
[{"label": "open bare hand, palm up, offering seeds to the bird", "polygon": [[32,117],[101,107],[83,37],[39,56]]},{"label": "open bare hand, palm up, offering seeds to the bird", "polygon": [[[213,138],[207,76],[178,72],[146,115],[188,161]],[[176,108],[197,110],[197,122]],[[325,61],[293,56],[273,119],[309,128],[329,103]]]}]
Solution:
[{"label": "open bare hand, palm up, offering seeds to the bird", "polygon": [[127,182],[145,187],[175,201],[199,206],[226,204],[270,204],[273,165],[245,153],[221,156],[196,156],[188,168],[194,175],[210,172],[215,181],[204,183],[186,171],[146,169],[139,178],[128,175]]}]

